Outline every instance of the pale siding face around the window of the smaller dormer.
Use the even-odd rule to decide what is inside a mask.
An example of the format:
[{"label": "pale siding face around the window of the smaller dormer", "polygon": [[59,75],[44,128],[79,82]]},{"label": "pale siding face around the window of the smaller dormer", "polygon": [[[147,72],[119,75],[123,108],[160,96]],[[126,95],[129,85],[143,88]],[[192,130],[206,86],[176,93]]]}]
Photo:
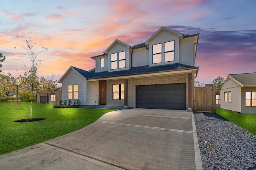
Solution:
[{"label": "pale siding face around the window of the smaller dormer", "polygon": [[[125,68],[117,68],[117,69],[114,69],[114,70],[111,70],[111,54],[113,53],[119,53],[119,52],[122,52],[122,51],[126,51],[126,67]],[[119,70],[128,70],[130,68],[130,50],[120,44],[120,43],[115,43],[113,45],[113,47],[111,47],[109,50],[108,50],[108,72],[111,72],[111,71],[119,71]]]}]

